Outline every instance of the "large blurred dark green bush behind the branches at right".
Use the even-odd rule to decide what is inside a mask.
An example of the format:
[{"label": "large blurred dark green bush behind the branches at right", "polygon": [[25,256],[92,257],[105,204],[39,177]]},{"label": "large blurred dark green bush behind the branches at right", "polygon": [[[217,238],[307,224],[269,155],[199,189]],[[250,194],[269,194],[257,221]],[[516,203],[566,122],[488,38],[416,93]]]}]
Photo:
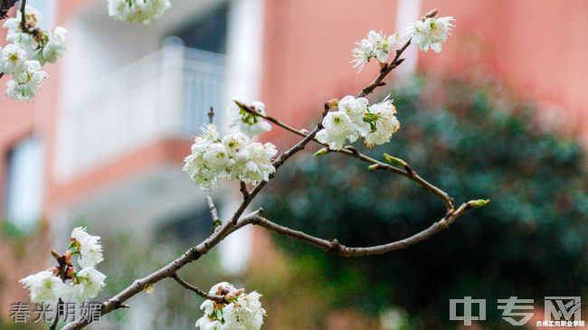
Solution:
[{"label": "large blurred dark green bush behind the branches at right", "polygon": [[[374,315],[400,307],[412,320],[403,328],[457,327],[450,298],[488,299],[482,325],[504,328],[498,298],[542,305],[550,295],[586,297],[583,149],[541,129],[533,106],[497,84],[424,81],[394,90],[402,127],[393,141],[362,151],[404,159],[456,204],[491,203],[384,256],[346,259],[278,238],[280,245],[304,263],[331,306]],[[441,201],[412,181],[366,166],[337,154],[299,156],[280,169],[261,205],[276,222],[348,246],[399,240],[444,215]]]}]

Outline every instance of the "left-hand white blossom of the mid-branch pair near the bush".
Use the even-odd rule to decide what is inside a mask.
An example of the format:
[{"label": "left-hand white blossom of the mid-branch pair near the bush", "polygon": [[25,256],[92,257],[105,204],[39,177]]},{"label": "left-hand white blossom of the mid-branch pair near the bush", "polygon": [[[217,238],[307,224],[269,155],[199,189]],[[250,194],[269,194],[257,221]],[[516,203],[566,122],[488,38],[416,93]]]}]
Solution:
[{"label": "left-hand white blossom of the mid-branch pair near the bush", "polygon": [[323,129],[317,133],[318,142],[327,144],[332,150],[340,150],[348,139],[356,141],[357,127],[345,112],[333,111],[323,118]]}]

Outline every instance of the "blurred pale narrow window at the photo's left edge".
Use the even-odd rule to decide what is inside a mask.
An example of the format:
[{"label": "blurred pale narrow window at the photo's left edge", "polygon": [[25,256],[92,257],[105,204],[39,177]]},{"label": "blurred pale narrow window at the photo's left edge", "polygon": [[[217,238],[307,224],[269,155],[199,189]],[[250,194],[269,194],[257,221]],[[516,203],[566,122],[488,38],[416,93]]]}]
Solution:
[{"label": "blurred pale narrow window at the photo's left edge", "polygon": [[32,231],[43,207],[43,148],[36,137],[20,141],[8,154],[6,220]]}]

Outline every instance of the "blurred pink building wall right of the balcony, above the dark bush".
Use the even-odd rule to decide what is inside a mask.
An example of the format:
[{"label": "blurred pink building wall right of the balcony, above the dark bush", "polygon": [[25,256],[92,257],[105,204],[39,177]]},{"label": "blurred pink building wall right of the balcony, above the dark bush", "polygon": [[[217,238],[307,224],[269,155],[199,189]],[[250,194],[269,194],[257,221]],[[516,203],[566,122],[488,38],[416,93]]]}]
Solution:
[{"label": "blurred pink building wall right of the balcony, above the dark bush", "polygon": [[[327,99],[365,86],[375,77],[375,65],[356,73],[350,49],[371,29],[393,33],[396,5],[390,0],[268,2],[262,88],[268,108],[306,125]],[[454,16],[457,27],[443,52],[419,53],[421,70],[491,73],[530,99],[561,107],[558,117],[566,128],[577,129],[588,142],[587,2],[422,1],[422,14],[432,8]]]}]

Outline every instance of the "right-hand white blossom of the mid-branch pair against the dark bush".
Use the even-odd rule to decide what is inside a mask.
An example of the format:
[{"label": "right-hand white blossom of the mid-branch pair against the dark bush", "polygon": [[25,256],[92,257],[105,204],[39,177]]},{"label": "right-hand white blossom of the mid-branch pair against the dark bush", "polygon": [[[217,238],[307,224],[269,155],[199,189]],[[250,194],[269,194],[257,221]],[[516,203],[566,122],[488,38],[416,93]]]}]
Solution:
[{"label": "right-hand white blossom of the mid-branch pair against the dark bush", "polygon": [[391,99],[384,99],[368,108],[365,118],[370,123],[370,130],[365,132],[365,145],[374,146],[390,142],[392,135],[400,128],[400,122],[394,116],[396,107]]}]

